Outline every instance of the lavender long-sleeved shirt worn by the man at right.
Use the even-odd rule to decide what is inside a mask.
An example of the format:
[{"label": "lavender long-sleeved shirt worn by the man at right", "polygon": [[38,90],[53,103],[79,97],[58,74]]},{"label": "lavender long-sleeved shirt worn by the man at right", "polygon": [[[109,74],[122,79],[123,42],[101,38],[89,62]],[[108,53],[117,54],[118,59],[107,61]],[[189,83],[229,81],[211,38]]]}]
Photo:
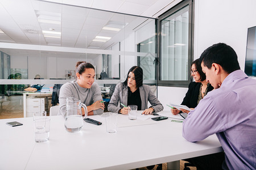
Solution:
[{"label": "lavender long-sleeved shirt worn by the man at right", "polygon": [[256,80],[230,73],[183,122],[183,137],[201,141],[216,133],[225,152],[222,168],[256,169]]}]

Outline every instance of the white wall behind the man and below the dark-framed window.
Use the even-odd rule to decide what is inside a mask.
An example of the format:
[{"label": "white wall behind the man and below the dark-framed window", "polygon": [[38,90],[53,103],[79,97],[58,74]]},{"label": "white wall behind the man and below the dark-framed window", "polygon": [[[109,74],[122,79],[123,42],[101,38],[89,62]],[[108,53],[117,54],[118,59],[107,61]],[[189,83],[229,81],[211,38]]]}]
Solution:
[{"label": "white wall behind the man and below the dark-framed window", "polygon": [[[236,51],[240,67],[244,70],[247,28],[256,25],[255,6],[255,0],[196,0],[195,59],[209,46],[225,42]],[[158,99],[163,104],[166,101],[181,103],[186,92],[187,88],[158,87]]]}]

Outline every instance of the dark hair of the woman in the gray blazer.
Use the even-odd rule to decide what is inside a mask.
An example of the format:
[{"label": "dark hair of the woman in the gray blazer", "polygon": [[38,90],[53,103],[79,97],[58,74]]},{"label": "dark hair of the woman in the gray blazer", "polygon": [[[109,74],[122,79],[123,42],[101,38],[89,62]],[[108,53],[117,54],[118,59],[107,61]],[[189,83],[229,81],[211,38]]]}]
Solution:
[{"label": "dark hair of the woman in the gray blazer", "polygon": [[143,70],[141,67],[139,66],[133,66],[131,67],[131,69],[128,71],[127,73],[127,77],[126,77],[126,80],[125,82],[123,82],[123,84],[125,86],[127,86],[127,81],[128,81],[128,76],[129,76],[129,73],[134,73],[134,76],[135,76],[135,82],[136,82],[136,87],[141,87],[142,86],[142,83],[143,83]]}]

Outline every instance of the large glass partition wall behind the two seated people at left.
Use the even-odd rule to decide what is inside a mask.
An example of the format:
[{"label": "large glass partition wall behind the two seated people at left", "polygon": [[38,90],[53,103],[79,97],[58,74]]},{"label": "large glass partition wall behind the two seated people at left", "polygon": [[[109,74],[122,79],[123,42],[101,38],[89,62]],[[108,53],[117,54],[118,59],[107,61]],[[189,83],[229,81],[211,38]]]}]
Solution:
[{"label": "large glass partition wall behind the two seated people at left", "polygon": [[[78,61],[92,63],[103,91],[134,65],[143,68],[143,83],[156,85],[155,19],[33,0],[0,6],[0,118],[31,116],[30,107],[48,112],[57,101],[45,92],[74,80]],[[24,94],[33,85],[41,93]]]}]

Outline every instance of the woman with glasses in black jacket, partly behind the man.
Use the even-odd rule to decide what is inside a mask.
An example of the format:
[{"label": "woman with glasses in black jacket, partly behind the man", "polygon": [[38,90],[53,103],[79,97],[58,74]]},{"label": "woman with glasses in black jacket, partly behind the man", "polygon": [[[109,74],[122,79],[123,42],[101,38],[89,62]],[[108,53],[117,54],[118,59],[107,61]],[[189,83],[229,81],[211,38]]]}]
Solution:
[{"label": "woman with glasses in black jacket, partly behind the man", "polygon": [[[188,85],[188,92],[185,95],[182,105],[186,105],[188,108],[195,108],[199,101],[204,98],[209,91],[213,90],[213,87],[206,80],[206,76],[202,71],[201,63],[199,59],[192,62],[191,76],[193,76],[195,82],[191,82]],[[183,112],[189,113],[189,111],[182,109]],[[172,114],[176,115],[180,113],[178,109],[171,109]]]}]

